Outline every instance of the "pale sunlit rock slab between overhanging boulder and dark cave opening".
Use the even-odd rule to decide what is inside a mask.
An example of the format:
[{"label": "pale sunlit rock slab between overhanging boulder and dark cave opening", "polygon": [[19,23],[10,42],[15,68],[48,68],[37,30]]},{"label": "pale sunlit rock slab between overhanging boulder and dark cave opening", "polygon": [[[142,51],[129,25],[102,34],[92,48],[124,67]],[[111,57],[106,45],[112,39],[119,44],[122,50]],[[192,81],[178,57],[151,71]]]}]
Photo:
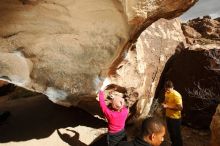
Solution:
[{"label": "pale sunlit rock slab between overhanging boulder and dark cave opening", "polygon": [[[125,54],[111,80],[138,93],[136,117],[148,114],[161,72],[169,57],[184,42],[180,21],[160,19],[143,31]],[[132,93],[129,105],[135,102]]]}]

